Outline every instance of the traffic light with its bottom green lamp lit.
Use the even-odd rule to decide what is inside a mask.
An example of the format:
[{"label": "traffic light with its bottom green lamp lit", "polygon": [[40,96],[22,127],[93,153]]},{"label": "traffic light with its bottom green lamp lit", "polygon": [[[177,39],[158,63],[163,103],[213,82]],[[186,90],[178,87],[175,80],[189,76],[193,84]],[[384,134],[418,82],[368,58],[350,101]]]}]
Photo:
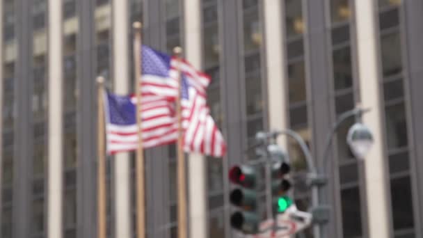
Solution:
[{"label": "traffic light with its bottom green lamp lit", "polygon": [[293,203],[288,196],[292,187],[289,181],[290,170],[291,166],[285,161],[276,162],[271,167],[273,214],[285,212]]}]

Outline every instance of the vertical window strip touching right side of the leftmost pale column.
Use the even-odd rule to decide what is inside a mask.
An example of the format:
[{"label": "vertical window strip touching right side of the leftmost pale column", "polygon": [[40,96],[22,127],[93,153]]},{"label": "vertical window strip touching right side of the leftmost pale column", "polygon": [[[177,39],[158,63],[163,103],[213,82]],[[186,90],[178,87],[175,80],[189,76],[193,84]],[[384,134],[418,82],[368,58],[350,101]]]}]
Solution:
[{"label": "vertical window strip touching right side of the leftmost pale column", "polygon": [[63,1],[63,234],[76,237],[77,228],[77,1]]}]

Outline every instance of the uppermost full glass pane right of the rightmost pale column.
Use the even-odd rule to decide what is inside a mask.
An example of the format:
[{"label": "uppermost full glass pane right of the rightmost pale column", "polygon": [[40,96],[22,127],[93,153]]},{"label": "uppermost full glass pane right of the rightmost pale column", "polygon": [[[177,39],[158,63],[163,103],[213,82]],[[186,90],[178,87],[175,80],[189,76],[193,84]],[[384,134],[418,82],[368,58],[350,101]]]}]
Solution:
[{"label": "uppermost full glass pane right of the rightmost pale column", "polygon": [[383,76],[388,77],[402,71],[401,39],[398,32],[381,37]]}]

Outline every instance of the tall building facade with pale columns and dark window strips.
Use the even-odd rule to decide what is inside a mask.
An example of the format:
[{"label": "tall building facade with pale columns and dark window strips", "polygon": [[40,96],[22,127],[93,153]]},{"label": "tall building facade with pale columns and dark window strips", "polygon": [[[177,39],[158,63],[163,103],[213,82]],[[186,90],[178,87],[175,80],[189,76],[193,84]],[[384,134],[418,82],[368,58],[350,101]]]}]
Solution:
[{"label": "tall building facade with pale columns and dark window strips", "polygon": [[[0,237],[96,237],[95,79],[133,93],[135,21],[145,45],[182,46],[212,77],[228,153],[187,155],[190,237],[237,237],[228,169],[255,159],[256,132],[294,129],[321,167],[330,128],[356,104],[371,109],[375,144],[358,161],[345,140],[354,120],[337,130],[326,237],[423,237],[423,1],[1,0],[0,12]],[[278,143],[304,173],[295,141]],[[145,154],[147,237],[177,237],[175,146]],[[135,237],[134,165],[131,153],[107,158],[109,237]],[[295,199],[310,208],[307,190]]]}]

